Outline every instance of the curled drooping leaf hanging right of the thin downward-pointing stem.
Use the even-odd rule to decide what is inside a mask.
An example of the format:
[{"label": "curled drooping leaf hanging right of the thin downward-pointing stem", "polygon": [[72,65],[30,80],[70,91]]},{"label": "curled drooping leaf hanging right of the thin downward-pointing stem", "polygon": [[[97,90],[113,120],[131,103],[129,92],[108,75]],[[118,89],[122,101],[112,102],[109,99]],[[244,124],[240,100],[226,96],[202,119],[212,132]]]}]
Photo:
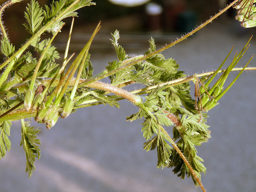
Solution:
[{"label": "curled drooping leaf hanging right of the thin downward-pointing stem", "polygon": [[[206,168],[201,163],[202,158],[197,156],[197,150],[195,146],[200,146],[201,143],[207,142],[210,136],[210,131],[208,130],[209,126],[206,125],[206,113],[201,114],[192,114],[187,110],[180,110],[181,116],[181,126],[173,127],[173,139],[178,140],[177,146],[180,151],[187,158],[188,162],[191,164],[194,172],[197,177],[201,178],[200,173],[206,172]],[[169,164],[169,167],[174,167],[173,172],[177,173],[182,179],[185,178],[185,175],[191,176],[191,172],[188,170],[188,167],[184,161],[180,158],[180,155],[177,151],[173,150],[173,153],[170,157],[172,160]],[[192,176],[193,181],[197,184],[197,181]]]}]

